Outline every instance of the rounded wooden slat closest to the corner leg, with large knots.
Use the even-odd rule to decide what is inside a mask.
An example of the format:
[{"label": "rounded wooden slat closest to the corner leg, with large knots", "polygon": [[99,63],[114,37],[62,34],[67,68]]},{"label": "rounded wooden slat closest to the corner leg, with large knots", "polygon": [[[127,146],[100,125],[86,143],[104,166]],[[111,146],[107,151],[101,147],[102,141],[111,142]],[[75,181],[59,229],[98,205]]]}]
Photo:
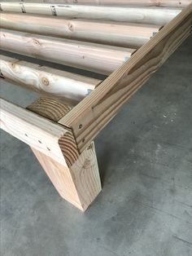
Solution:
[{"label": "rounded wooden slat closest to the corner leg, with large knots", "polygon": [[100,80],[68,73],[0,55],[1,77],[44,95],[77,104],[101,83]]}]

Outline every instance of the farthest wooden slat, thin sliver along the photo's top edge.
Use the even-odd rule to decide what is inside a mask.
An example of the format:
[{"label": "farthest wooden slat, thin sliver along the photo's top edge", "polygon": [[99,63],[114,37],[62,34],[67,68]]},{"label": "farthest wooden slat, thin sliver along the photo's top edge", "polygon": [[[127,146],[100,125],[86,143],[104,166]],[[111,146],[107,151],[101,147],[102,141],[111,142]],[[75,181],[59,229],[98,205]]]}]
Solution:
[{"label": "farthest wooden slat, thin sliver along the photo's top edge", "polygon": [[[2,0],[1,2],[7,2]],[[9,0],[8,2],[21,2]],[[141,7],[186,7],[190,4],[190,0],[24,0],[23,2],[49,2],[63,4],[89,4],[89,5],[107,5],[107,6],[141,6]]]}]

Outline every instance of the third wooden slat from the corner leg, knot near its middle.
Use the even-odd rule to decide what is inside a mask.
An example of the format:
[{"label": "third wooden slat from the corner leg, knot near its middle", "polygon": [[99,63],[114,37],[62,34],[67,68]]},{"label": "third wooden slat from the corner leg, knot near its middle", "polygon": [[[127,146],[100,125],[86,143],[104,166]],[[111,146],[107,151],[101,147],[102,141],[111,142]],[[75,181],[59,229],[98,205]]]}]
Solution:
[{"label": "third wooden slat from the corner leg, knot near its middle", "polygon": [[160,26],[101,20],[66,20],[48,15],[20,15],[2,12],[1,28],[112,46],[140,47],[159,31]]}]

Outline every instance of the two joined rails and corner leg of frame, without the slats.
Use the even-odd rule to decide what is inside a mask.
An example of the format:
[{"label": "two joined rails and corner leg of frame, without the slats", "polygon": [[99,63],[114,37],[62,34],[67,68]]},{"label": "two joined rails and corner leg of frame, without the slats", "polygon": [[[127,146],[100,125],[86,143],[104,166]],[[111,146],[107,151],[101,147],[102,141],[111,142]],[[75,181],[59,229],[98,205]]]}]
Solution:
[{"label": "two joined rails and corner leg of frame, without the slats", "polygon": [[101,191],[93,140],[191,33],[192,3],[70,109],[39,99],[28,109],[1,99],[1,128],[28,143],[59,194],[85,211]]}]

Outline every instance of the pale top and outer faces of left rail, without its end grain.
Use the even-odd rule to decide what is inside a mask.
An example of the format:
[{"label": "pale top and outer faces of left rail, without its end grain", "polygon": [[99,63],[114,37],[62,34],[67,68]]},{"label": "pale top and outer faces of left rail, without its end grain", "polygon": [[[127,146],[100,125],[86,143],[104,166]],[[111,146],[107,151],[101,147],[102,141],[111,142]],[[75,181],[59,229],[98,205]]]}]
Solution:
[{"label": "pale top and outer faces of left rail, without its end grain", "polygon": [[0,127],[39,152],[67,166],[59,139],[68,132],[63,126],[0,99]]}]

